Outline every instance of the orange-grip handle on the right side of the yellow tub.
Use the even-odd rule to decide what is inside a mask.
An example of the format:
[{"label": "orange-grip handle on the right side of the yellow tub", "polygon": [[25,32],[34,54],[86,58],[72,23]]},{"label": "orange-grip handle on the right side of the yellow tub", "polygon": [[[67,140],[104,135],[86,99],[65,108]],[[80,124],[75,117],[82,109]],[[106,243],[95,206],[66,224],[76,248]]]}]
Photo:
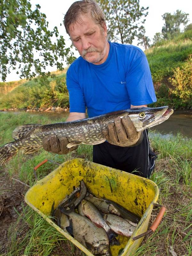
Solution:
[{"label": "orange-grip handle on the right side of the yellow tub", "polygon": [[161,204],[153,204],[155,206],[158,206],[158,207],[161,207],[160,210],[159,210],[159,213],[157,214],[157,217],[156,219],[154,220],[153,224],[151,225],[150,229],[148,229],[146,232],[138,235],[138,236],[135,236],[132,238],[133,241],[141,238],[142,236],[146,236],[148,234],[151,234],[152,232],[154,232],[156,230],[156,228],[158,227],[159,223],[161,222],[162,218],[163,218],[163,215],[166,211],[166,208],[165,206],[161,205]]}]

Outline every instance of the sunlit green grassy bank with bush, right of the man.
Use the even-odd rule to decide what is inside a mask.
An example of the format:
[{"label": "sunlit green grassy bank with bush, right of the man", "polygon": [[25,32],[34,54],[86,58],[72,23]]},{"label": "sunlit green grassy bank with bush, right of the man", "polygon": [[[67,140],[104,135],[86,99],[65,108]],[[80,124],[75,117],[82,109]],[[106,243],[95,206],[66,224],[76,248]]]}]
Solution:
[{"label": "sunlit green grassy bank with bush, right of the man", "polygon": [[192,30],[162,40],[145,51],[157,102],[174,109],[192,108]]}]

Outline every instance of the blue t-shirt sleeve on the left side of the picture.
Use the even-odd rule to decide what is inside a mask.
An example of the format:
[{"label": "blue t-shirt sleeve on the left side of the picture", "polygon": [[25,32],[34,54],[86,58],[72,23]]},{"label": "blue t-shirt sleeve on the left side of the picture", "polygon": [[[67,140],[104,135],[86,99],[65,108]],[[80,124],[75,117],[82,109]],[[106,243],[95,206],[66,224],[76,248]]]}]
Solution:
[{"label": "blue t-shirt sleeve on the left side of the picture", "polygon": [[67,71],[67,89],[69,92],[70,112],[85,113],[85,100],[83,90],[78,83],[76,71],[72,66]]}]

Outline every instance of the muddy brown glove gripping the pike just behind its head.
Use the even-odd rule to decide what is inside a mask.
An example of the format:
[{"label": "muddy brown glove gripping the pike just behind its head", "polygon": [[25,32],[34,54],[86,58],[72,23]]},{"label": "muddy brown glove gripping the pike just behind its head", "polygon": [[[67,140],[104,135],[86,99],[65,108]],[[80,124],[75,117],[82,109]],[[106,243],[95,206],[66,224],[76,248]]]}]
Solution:
[{"label": "muddy brown glove gripping the pike just behind its head", "polygon": [[128,116],[116,117],[114,122],[108,123],[108,129],[103,129],[106,140],[120,147],[137,146],[143,140],[143,132],[137,132]]}]

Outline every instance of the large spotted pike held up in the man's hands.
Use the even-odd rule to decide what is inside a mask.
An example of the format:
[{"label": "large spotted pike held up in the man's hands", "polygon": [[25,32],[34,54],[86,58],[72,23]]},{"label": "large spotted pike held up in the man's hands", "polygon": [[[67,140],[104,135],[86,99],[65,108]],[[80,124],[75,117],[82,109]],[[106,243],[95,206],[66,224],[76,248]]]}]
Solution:
[{"label": "large spotted pike held up in the man's hands", "polygon": [[15,141],[5,144],[0,148],[0,166],[7,162],[19,150],[23,154],[31,154],[42,148],[42,140],[45,136],[55,134],[67,137],[69,140],[68,148],[80,143],[96,145],[106,139],[102,133],[107,128],[108,122],[114,118],[129,116],[136,130],[142,131],[149,127],[163,123],[173,113],[168,106],[159,108],[132,108],[119,110],[91,118],[84,118],[71,122],[56,124],[24,124],[17,127],[12,137]]}]

